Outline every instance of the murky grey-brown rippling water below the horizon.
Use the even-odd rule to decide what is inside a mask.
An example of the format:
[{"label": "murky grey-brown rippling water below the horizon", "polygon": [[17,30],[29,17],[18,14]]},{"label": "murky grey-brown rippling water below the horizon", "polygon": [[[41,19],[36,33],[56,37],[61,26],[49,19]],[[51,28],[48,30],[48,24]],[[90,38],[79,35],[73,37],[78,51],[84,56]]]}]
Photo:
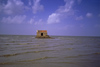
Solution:
[{"label": "murky grey-brown rippling water below the horizon", "polygon": [[0,67],[100,67],[100,37],[0,35]]}]

